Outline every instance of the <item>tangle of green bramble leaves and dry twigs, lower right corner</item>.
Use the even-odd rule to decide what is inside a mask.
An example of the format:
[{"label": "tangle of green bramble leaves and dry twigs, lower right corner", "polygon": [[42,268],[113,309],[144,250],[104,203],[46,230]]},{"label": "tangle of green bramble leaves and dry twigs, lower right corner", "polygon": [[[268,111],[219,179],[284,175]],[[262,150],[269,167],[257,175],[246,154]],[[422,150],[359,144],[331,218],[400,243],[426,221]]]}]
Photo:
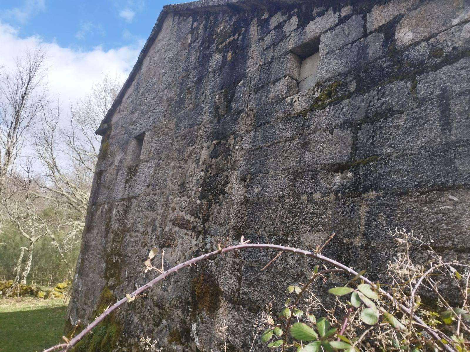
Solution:
[{"label": "tangle of green bramble leaves and dry twigs, lower right corner", "polygon": [[[388,263],[391,284],[365,283],[360,279],[364,272],[360,272],[344,286],[328,290],[335,299],[332,306],[326,308],[321,303],[324,299],[319,299],[308,288],[319,276],[324,282],[328,280],[327,274],[318,273],[316,267],[308,283],[287,287],[288,298],[277,317],[271,308],[267,308],[262,319],[267,329],[261,334],[261,342],[278,351],[295,348],[298,352],[436,352],[441,351],[444,345],[451,345],[458,352],[470,351],[470,267],[455,260],[444,261],[429,243],[424,243],[412,232],[396,230],[392,236],[401,251]],[[426,247],[432,258],[427,266],[415,264],[410,259],[412,245]],[[453,282],[454,294],[462,298],[458,306],[451,305],[445,298],[453,294],[441,292],[440,283],[446,279]],[[424,305],[421,290],[427,290],[428,296],[432,291],[434,294],[430,300],[437,301],[437,304],[432,307]],[[307,292],[309,297],[299,308],[303,292]],[[384,295],[385,292],[394,301]],[[409,314],[404,314],[400,304],[408,309]],[[313,313],[318,312],[323,316],[315,318]],[[425,324],[437,329],[440,341],[431,339],[423,326],[411,319],[411,314],[417,314]],[[296,322],[290,324],[292,318]],[[283,338],[279,338],[281,336]]]}]

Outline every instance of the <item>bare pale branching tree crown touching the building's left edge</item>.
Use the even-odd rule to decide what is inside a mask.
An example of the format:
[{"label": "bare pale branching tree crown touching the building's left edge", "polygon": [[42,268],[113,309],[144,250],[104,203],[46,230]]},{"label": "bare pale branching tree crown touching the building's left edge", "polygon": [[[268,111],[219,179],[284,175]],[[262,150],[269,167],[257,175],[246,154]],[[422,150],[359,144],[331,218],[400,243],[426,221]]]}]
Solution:
[{"label": "bare pale branching tree crown touching the building's left edge", "polygon": [[44,107],[35,129],[33,144],[43,170],[37,179],[41,180],[37,185],[42,192],[37,195],[54,200],[62,208],[61,226],[69,229],[62,245],[52,242],[63,260],[64,252],[80,244],[101,142],[101,137],[94,132],[116,98],[120,85],[119,80],[109,76],[94,84],[91,93],[71,107],[70,124],[66,127],[61,126],[59,105]]}]

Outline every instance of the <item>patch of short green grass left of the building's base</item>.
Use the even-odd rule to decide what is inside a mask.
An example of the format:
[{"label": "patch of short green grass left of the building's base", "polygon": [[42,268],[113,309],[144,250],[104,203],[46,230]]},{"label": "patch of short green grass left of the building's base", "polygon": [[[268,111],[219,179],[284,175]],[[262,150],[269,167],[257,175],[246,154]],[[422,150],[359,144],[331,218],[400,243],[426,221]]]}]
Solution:
[{"label": "patch of short green grass left of the building's base", "polygon": [[62,342],[67,303],[0,298],[0,352],[40,352]]}]

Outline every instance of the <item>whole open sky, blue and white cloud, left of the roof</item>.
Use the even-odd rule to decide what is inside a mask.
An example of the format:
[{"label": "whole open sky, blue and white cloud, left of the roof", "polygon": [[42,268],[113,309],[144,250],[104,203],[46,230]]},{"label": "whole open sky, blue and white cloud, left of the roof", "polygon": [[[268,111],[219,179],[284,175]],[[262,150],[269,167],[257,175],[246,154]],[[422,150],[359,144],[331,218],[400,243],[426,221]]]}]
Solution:
[{"label": "whole open sky, blue and white cloud, left of the roof", "polygon": [[48,91],[67,107],[105,75],[124,82],[163,6],[175,2],[184,1],[0,0],[0,71],[45,49]]}]

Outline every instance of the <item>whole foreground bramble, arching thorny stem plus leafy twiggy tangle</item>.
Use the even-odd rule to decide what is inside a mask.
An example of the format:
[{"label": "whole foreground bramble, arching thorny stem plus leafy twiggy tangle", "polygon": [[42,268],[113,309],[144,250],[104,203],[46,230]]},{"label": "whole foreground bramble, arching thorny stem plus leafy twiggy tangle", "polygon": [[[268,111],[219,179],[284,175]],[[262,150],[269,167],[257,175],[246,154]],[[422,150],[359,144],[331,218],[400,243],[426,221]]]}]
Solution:
[{"label": "whole foreground bramble, arching thorny stem plus leafy twiggy tangle", "polygon": [[[64,343],[52,346],[44,352],[58,349],[65,352],[71,348],[78,348],[80,345],[90,343],[103,346],[102,341],[110,342],[107,346],[118,347],[119,339],[117,332],[121,325],[117,321],[113,321],[113,315],[111,314],[120,306],[126,303],[133,304],[132,302],[135,299],[145,295],[144,291],[154,287],[158,282],[171,274],[177,273],[182,268],[189,268],[202,260],[208,260],[218,255],[226,257],[223,254],[248,249],[278,251],[273,260],[262,270],[274,262],[279,257],[279,253],[282,252],[304,255],[315,260],[321,260],[323,263],[334,267],[329,269],[326,264],[323,264],[324,269],[319,271],[319,266],[317,265],[313,268],[313,275],[307,283],[299,283],[298,286],[288,286],[286,294],[293,297],[288,297],[285,300],[284,307],[280,310],[279,314],[274,314],[272,309],[273,304],[270,302],[266,306],[266,312],[262,315],[261,324],[258,320],[255,325],[257,332],[254,334],[250,350],[252,350],[261,325],[265,325],[267,329],[263,329],[264,332],[260,336],[261,342],[266,343],[267,347],[273,350],[280,348],[282,352],[285,348],[294,348],[298,352],[333,352],[338,350],[347,352],[376,350],[406,350],[413,352],[435,352],[440,350],[446,352],[468,351],[468,333],[470,332],[467,324],[468,320],[470,320],[468,306],[468,293],[470,291],[469,266],[458,263],[455,260],[444,262],[432,250],[429,244],[424,243],[422,238],[413,236],[412,233],[407,233],[404,230],[395,231],[392,236],[403,247],[400,247],[403,252],[399,252],[395,259],[388,264],[391,283],[389,285],[382,285],[387,291],[381,287],[380,283],[373,283],[365,277],[363,275],[364,271],[358,273],[354,269],[322,255],[320,252],[328,244],[331,237],[322,246],[317,245],[314,252],[283,245],[248,244],[249,241],[244,241],[242,237],[238,245],[222,247],[219,243],[217,250],[186,260],[168,270],[164,269],[163,252],[161,256],[162,268],[157,269],[152,265],[152,259],[155,258],[158,252],[158,250],[152,249],[148,259],[143,263],[142,272],[144,270],[157,270],[160,275],[138,287],[135,291],[127,293],[124,298],[117,300],[114,304],[107,306],[102,314],[90,322],[77,336],[73,336],[74,329],[70,338],[63,337]],[[409,248],[411,245],[416,245],[418,248],[427,247],[432,259],[426,263],[426,266],[430,268],[426,270],[425,266],[415,265],[410,260]],[[460,271],[457,271],[454,268],[455,266],[459,266]],[[450,305],[449,301],[439,291],[439,281],[436,282],[435,278],[431,277],[433,271],[438,271],[437,274],[444,275],[444,278],[454,280],[455,286],[458,288],[457,292],[463,298],[462,304]],[[348,278],[353,277],[345,285],[332,287],[329,290],[329,294],[333,295],[335,299],[334,303],[327,309],[323,305],[322,300],[313,291],[310,291],[309,286],[318,277],[322,277],[323,283],[327,283],[328,275],[333,272],[343,272],[348,275]],[[448,309],[441,311],[441,309],[435,308],[436,311],[434,311],[432,310],[434,308],[430,309],[422,305],[421,298],[418,295],[418,289],[422,287],[435,292],[438,307],[440,304],[440,306],[445,306]],[[308,292],[310,297],[300,301],[301,296],[305,292]],[[452,294],[449,297],[452,297]],[[350,300],[347,300],[347,298],[350,298]],[[292,301],[293,303],[291,303]],[[328,301],[328,299],[325,301]],[[302,304],[304,306],[301,306]],[[313,314],[317,310],[322,315],[318,319]],[[216,312],[214,310],[213,313]],[[292,319],[294,319],[293,324],[291,324]],[[438,324],[442,323],[453,324],[451,326],[452,329],[441,329]],[[78,324],[79,322],[77,322],[76,327]],[[219,329],[224,333],[224,350],[227,351],[227,326],[225,321],[222,328],[219,325]],[[101,335],[96,334],[101,330],[103,332]],[[452,334],[450,337],[447,335],[449,331]],[[90,334],[90,332],[94,332],[94,334]],[[97,339],[96,336],[102,336],[102,338]],[[172,339],[174,336],[169,337]],[[150,348],[150,346],[148,347]],[[154,347],[157,348],[156,346]]]}]

